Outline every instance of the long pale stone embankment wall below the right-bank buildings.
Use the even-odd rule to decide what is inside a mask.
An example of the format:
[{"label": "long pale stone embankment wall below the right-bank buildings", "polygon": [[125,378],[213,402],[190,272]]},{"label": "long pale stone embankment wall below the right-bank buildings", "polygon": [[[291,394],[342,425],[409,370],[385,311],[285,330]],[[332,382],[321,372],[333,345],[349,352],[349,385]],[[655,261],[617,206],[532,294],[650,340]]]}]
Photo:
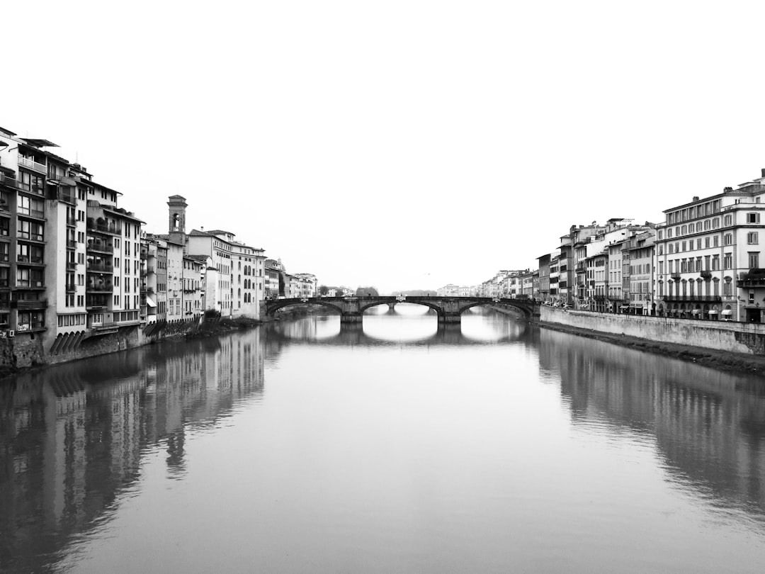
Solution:
[{"label": "long pale stone embankment wall below the right-bank buildings", "polygon": [[539,321],[661,343],[765,355],[765,325],[760,323],[614,315],[559,309],[547,305],[542,305]]}]

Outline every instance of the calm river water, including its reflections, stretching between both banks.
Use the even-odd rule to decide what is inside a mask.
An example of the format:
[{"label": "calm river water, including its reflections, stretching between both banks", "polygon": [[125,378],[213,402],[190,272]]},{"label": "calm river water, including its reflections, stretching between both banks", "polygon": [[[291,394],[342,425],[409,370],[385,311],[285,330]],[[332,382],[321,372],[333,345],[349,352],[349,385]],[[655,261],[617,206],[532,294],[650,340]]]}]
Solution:
[{"label": "calm river water, including its reflections, stretching between both banks", "polygon": [[2,572],[762,572],[765,384],[415,305],[0,381]]}]

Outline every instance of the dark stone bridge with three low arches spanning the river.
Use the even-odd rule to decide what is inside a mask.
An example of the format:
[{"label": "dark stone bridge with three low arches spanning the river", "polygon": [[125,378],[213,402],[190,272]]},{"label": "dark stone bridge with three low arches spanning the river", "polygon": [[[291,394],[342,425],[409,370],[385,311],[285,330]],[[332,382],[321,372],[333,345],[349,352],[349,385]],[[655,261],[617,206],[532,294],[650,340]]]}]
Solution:
[{"label": "dark stone bridge with three low arches spanning the river", "polygon": [[307,297],[290,299],[271,299],[262,302],[261,318],[273,318],[279,309],[291,305],[324,305],[340,314],[341,323],[360,323],[364,311],[377,305],[388,305],[392,308],[396,303],[414,303],[425,305],[438,314],[439,323],[459,323],[463,311],[480,305],[501,305],[513,307],[522,312],[527,319],[539,317],[539,303],[533,299],[509,299],[498,297],[433,297],[419,295],[398,295],[382,297]]}]

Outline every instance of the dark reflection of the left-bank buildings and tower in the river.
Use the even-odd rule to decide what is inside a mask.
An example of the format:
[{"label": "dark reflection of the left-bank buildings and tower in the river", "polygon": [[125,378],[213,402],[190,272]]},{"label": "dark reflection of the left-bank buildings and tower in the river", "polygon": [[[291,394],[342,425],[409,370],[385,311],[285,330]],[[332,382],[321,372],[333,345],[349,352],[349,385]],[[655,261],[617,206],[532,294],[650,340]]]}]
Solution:
[{"label": "dark reflection of the left-bank buildings and tower in the river", "polygon": [[0,570],[38,571],[109,515],[167,452],[184,474],[188,432],[263,387],[262,337],[162,344],[24,373],[0,384]]}]

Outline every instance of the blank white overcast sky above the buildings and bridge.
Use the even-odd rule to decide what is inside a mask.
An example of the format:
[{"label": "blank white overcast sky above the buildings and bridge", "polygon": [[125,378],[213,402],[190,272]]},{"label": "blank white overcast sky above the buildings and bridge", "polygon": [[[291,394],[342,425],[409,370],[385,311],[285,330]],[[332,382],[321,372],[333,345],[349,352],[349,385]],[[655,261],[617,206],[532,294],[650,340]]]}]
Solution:
[{"label": "blank white overcast sky above the buildings and bridge", "polygon": [[379,292],[526,269],[571,225],[765,168],[763,2],[11,2],[0,126],[151,233]]}]

